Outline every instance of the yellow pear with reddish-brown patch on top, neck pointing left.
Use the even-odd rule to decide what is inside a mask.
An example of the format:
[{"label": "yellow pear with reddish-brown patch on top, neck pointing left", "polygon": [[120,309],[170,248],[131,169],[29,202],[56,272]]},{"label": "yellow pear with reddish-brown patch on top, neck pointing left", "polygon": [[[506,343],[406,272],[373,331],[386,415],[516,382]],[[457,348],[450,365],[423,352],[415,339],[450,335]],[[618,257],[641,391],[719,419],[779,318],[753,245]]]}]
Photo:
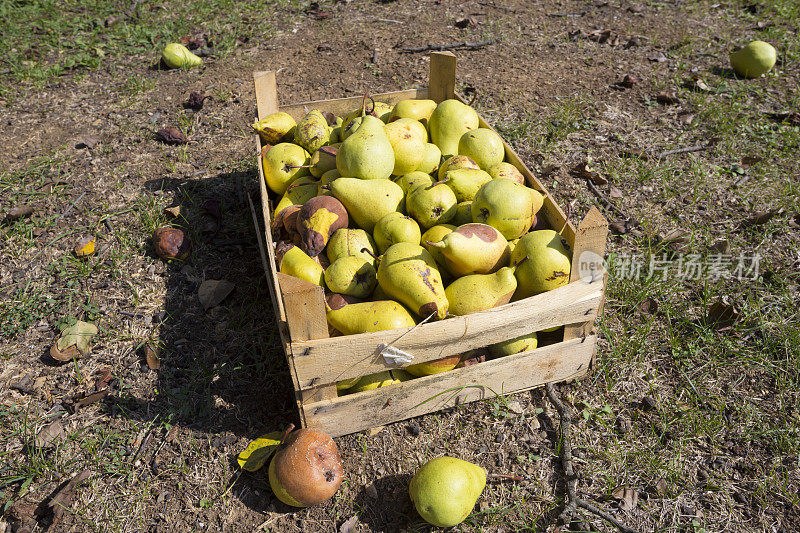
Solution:
[{"label": "yellow pear with reddish-brown patch on top, neck pointing left", "polygon": [[441,241],[426,244],[442,252],[447,269],[456,277],[491,274],[508,265],[508,241],[486,224],[465,224]]}]

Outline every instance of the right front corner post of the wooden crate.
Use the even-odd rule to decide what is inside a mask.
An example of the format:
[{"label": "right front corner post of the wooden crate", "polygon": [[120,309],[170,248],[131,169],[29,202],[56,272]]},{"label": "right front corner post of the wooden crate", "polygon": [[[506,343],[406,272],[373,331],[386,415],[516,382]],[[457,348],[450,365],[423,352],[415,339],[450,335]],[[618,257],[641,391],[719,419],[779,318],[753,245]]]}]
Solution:
[{"label": "right front corner post of the wooden crate", "polygon": [[[592,206],[575,232],[575,241],[572,246],[570,283],[580,279],[598,279],[603,285],[603,295],[605,295],[607,272],[603,266],[603,258],[606,253],[607,237],[608,221],[596,207]],[[602,306],[603,300],[601,299],[598,305],[598,314]],[[564,327],[564,340],[589,335],[593,326],[594,318],[590,321],[567,325]]]}]

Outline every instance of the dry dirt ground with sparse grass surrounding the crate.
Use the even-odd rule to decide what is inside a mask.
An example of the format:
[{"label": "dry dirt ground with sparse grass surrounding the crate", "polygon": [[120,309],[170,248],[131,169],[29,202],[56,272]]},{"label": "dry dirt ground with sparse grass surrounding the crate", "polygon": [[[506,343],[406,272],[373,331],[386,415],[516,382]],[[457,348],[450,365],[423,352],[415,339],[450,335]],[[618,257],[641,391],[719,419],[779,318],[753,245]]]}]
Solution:
[{"label": "dry dirt ground with sparse grass surrounding the crate", "polygon": [[[278,71],[281,103],[423,87],[428,55],[403,47],[487,39],[455,51],[457,90],[573,221],[603,209],[612,265],[761,257],[743,280],[612,271],[597,368],[559,387],[575,411],[579,494],[643,532],[798,530],[797,6],[352,0],[248,17],[252,35],[189,71],[154,68],[158,42],[42,83],[0,74],[0,211],[34,209],[0,229],[0,531],[46,529],[42,502],[84,469],[51,530],[339,531],[354,515],[343,531],[428,530],[408,481],[444,454],[523,478],[490,483],[456,529],[559,527],[558,418],[541,390],[336,439],[346,481],[313,508],[283,505],[263,471],[236,462],[253,438],[298,423],[247,200],[252,72]],[[779,64],[740,80],[727,53],[755,38]],[[191,92],[209,96],[201,110],[184,107]],[[169,125],[191,142],[158,142]],[[587,158],[609,181],[600,195],[573,172]],[[166,264],[149,237],[173,205],[194,246]],[[83,235],[97,236],[88,261],[71,254]],[[207,279],[235,290],[204,310]],[[99,335],[90,355],[57,364],[49,349],[75,318]],[[104,369],[110,392],[76,407]],[[34,445],[53,420],[63,433]],[[613,529],[581,517],[560,530]]]}]

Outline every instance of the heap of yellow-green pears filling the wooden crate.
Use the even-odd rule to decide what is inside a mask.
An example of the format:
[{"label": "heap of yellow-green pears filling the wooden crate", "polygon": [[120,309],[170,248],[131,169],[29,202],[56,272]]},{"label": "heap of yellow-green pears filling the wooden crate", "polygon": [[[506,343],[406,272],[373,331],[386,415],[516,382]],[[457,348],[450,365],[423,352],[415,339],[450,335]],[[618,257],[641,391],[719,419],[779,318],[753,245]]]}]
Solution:
[{"label": "heap of yellow-green pears filling the wooden crate", "polygon": [[[364,103],[344,117],[253,124],[280,272],[323,287],[333,335],[410,327],[566,285],[571,251],[497,133],[458,101]],[[536,348],[536,333],[488,347]],[[337,384],[339,394],[446,372],[459,354]]]}]

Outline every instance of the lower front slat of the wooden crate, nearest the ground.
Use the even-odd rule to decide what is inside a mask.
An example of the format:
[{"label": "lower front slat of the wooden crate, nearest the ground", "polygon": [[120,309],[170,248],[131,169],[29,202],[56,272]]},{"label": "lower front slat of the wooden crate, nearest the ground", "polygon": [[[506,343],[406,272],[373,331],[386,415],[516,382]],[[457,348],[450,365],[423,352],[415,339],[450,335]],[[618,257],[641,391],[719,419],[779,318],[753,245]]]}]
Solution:
[{"label": "lower front slat of the wooden crate, nearest the ground", "polygon": [[304,407],[309,427],[337,437],[473,402],[577,379],[589,368],[597,339],[587,337],[342,396]]}]

